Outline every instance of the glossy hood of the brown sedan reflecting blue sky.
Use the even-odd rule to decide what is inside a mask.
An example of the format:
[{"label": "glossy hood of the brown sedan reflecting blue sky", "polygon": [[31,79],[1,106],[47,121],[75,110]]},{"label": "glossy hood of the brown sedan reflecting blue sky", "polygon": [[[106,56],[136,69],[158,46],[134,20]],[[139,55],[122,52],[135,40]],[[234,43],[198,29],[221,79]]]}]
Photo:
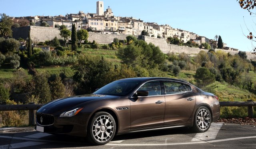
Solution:
[{"label": "glossy hood of the brown sedan reflecting blue sky", "polygon": [[87,94],[87,95],[79,95],[79,96],[72,96],[66,97],[61,99],[56,99],[49,103],[46,103],[37,112],[45,113],[45,114],[54,114],[56,112],[64,112],[66,110],[70,110],[72,108],[76,108],[76,106],[92,101],[92,100],[99,100],[99,99],[108,99],[108,98],[117,98],[118,96],[113,95],[97,95],[97,94]]}]

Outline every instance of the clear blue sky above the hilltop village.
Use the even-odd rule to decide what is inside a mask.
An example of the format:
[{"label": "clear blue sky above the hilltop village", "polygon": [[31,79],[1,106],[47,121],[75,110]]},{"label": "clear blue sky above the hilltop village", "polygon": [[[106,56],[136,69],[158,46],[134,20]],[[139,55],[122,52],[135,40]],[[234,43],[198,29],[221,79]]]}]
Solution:
[{"label": "clear blue sky above the hilltop village", "polygon": [[[0,0],[0,13],[8,16],[55,16],[70,13],[96,13],[97,0]],[[251,51],[244,34],[246,26],[254,33],[255,16],[240,8],[236,0],[102,0],[115,16],[140,18],[144,22],[169,24],[214,39],[220,35],[227,46]],[[254,11],[255,12],[255,11]],[[255,23],[254,23],[255,20]],[[256,31],[255,31],[256,32]],[[256,45],[256,43],[255,43]]]}]

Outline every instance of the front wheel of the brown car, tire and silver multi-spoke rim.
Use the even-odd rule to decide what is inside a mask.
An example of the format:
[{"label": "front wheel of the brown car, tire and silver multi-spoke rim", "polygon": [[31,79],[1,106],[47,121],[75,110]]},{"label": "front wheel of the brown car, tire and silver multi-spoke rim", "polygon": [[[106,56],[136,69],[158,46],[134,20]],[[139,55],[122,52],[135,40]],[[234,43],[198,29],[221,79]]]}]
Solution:
[{"label": "front wheel of the brown car, tire and silver multi-spoke rim", "polygon": [[110,113],[97,112],[89,121],[87,138],[94,145],[107,144],[113,139],[115,133],[116,122]]}]

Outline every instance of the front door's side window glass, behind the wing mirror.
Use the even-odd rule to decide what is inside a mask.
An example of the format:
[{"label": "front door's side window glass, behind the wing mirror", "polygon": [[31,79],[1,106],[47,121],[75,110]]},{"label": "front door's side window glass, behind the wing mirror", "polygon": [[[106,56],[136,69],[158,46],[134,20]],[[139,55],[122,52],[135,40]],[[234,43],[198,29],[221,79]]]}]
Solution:
[{"label": "front door's side window glass, behind the wing mirror", "polygon": [[138,91],[148,91],[148,96],[161,95],[160,81],[150,81],[142,85]]}]

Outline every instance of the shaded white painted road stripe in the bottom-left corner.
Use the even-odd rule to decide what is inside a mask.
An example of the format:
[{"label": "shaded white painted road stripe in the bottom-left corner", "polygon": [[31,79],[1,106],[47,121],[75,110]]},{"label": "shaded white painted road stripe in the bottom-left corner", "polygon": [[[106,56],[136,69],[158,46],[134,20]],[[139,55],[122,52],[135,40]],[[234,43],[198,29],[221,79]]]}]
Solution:
[{"label": "shaded white painted road stripe in the bottom-left corner", "polygon": [[29,147],[34,145],[41,145],[46,144],[47,142],[34,142],[34,141],[28,141],[28,142],[21,142],[21,143],[14,143],[14,144],[7,144],[7,145],[1,145],[0,149],[17,149],[21,147]]}]

